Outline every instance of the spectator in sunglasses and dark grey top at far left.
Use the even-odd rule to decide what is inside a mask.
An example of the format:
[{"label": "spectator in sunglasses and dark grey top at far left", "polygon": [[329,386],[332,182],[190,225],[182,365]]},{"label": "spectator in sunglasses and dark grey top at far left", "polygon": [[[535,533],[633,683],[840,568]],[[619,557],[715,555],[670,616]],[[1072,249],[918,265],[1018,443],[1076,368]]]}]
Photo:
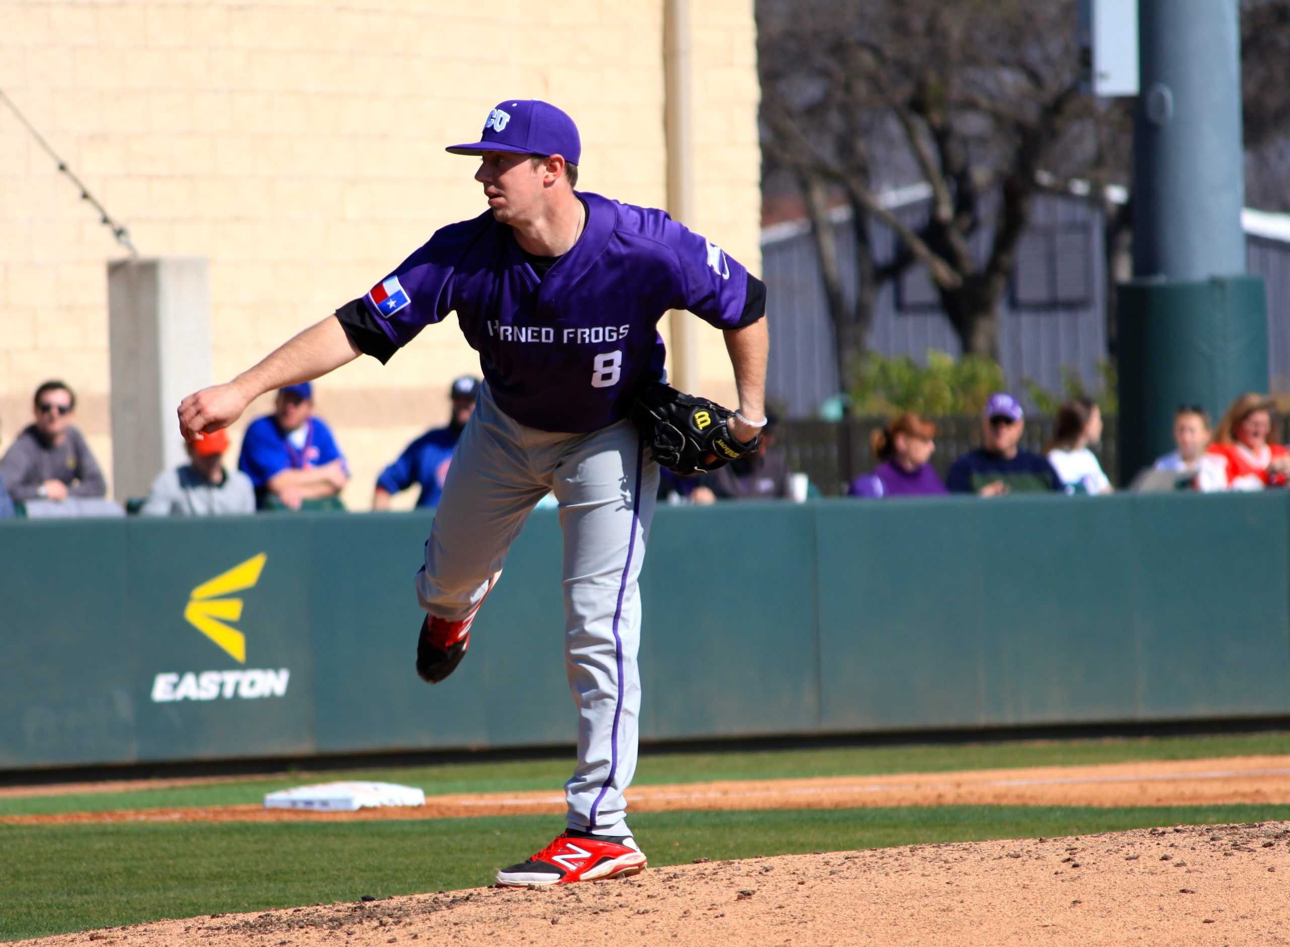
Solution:
[{"label": "spectator in sunglasses and dark grey top at far left", "polygon": [[32,399],[36,421],[0,459],[0,480],[17,501],[72,497],[102,498],[107,484],[85,437],[72,424],[76,395],[66,383],[50,381]]}]

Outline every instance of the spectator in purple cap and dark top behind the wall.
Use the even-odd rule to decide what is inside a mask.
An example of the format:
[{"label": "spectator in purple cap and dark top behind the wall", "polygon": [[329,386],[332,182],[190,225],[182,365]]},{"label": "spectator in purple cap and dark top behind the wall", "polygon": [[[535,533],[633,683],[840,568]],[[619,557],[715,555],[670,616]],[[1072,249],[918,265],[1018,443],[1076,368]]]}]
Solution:
[{"label": "spectator in purple cap and dark top behind the wall", "polygon": [[1047,458],[1018,446],[1024,427],[1026,413],[1015,397],[1005,391],[991,395],[980,414],[982,445],[949,466],[949,492],[998,497],[1062,490],[1062,479]]}]

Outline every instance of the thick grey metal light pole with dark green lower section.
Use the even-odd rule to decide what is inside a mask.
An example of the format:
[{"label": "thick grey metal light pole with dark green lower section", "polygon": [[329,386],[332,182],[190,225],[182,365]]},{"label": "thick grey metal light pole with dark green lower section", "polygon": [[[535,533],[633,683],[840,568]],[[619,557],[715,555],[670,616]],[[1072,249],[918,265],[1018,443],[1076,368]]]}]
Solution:
[{"label": "thick grey metal light pole with dark green lower section", "polygon": [[1268,387],[1267,299],[1245,275],[1236,0],[1138,0],[1134,280],[1118,289],[1120,473],[1173,449],[1178,405]]}]

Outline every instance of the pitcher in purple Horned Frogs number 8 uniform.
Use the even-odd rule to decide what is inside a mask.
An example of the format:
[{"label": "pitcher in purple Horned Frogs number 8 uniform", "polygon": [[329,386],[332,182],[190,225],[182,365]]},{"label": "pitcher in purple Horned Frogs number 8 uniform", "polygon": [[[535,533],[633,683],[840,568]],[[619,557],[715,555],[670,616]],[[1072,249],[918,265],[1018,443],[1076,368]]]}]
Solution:
[{"label": "pitcher in purple Horned Frogs number 8 uniform", "polygon": [[[484,383],[417,574],[426,610],[417,671],[430,683],[453,672],[507,550],[553,493],[578,765],[565,783],[566,831],[497,880],[635,873],[645,855],[623,791],[636,769],[637,577],[659,473],[628,413],[637,390],[653,391],[663,377],[658,320],[685,308],[724,332],[739,395],[729,435],[744,449],[756,441],[765,423],[765,285],[662,210],[574,191],[578,129],[546,102],[499,102],[479,141],[449,151],[479,157],[488,210],[439,230],[366,294],[232,382],[186,397],[181,428],[191,439],[224,427],[255,395],[360,354],[384,363],[457,312]],[[511,711],[546,708],[521,702]]]}]

